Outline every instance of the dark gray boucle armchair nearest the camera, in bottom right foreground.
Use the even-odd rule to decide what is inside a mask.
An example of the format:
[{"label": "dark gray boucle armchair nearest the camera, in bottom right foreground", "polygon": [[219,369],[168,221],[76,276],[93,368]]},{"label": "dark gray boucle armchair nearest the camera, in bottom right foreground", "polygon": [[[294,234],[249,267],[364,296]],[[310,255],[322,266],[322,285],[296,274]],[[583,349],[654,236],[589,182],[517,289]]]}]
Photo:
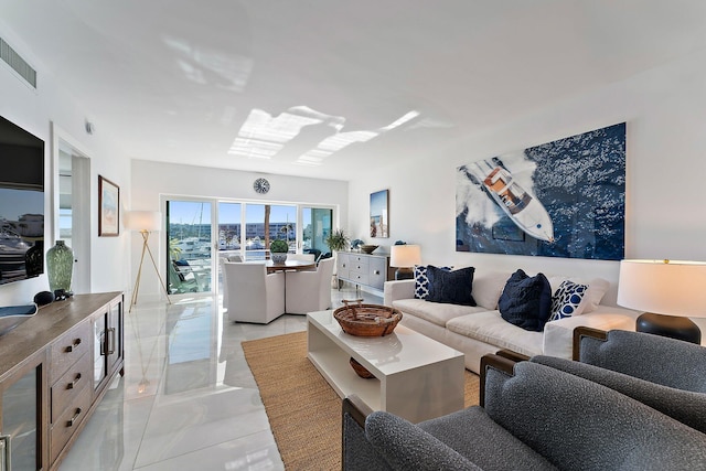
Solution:
[{"label": "dark gray boucle armchair nearest the camera, in bottom right foreground", "polygon": [[512,370],[491,361],[483,407],[418,425],[344,400],[343,469],[706,469],[704,433],[554,367]]}]

